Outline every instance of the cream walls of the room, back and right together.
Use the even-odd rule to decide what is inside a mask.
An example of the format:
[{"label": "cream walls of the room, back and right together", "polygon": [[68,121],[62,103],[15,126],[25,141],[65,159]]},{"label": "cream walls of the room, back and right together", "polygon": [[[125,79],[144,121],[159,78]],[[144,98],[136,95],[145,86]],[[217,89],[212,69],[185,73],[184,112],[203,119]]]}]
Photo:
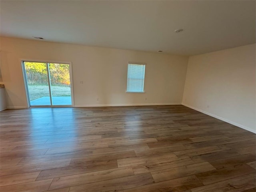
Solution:
[{"label": "cream walls of the room, back and right together", "polygon": [[[75,106],[182,102],[256,132],[255,44],[188,58],[17,38],[2,37],[0,42],[1,83],[9,108],[27,105],[21,58],[67,61],[73,66]],[[146,93],[125,92],[128,61],[147,63]]]}]

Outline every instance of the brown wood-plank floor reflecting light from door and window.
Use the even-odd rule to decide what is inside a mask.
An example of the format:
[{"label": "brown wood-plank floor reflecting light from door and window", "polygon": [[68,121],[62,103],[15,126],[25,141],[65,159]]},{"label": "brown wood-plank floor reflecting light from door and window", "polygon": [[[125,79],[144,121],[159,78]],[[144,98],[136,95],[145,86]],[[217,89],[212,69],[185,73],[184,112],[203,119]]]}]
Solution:
[{"label": "brown wood-plank floor reflecting light from door and window", "polygon": [[0,112],[1,192],[252,192],[256,135],[185,106]]}]

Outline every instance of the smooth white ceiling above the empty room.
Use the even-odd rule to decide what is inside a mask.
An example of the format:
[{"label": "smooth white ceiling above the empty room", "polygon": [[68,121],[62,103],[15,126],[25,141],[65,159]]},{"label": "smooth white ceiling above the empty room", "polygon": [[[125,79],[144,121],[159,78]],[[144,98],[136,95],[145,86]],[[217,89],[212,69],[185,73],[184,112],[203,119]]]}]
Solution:
[{"label": "smooth white ceiling above the empty room", "polygon": [[[255,43],[256,1],[1,0],[1,36],[195,55]],[[175,33],[182,28],[183,32]]]}]

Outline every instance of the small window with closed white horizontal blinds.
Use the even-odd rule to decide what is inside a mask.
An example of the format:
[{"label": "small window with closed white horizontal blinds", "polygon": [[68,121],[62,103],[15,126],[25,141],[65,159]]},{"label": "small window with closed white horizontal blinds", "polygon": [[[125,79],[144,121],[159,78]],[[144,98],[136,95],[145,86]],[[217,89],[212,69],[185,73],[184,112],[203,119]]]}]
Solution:
[{"label": "small window with closed white horizontal blinds", "polygon": [[128,63],[126,92],[144,92],[145,64]]}]

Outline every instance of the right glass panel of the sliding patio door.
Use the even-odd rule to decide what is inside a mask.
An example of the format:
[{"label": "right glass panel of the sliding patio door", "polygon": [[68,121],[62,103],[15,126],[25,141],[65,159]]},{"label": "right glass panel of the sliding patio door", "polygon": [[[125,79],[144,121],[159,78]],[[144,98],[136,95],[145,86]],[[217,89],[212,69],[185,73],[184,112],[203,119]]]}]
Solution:
[{"label": "right glass panel of the sliding patio door", "polygon": [[49,63],[52,105],[72,105],[69,64]]}]

